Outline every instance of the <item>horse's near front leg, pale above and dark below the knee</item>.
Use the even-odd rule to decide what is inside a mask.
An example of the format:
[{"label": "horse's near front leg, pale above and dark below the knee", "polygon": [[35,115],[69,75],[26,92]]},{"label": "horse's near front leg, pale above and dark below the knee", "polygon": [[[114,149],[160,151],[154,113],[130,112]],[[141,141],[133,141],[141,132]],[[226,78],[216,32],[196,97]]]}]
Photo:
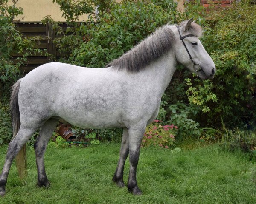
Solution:
[{"label": "horse's near front leg, pale above and dark below the knee", "polygon": [[129,160],[130,172],[128,178],[128,190],[134,195],[141,195],[142,192],[137,185],[136,170],[140,156],[140,144],[145,133],[145,125],[133,126],[128,130],[129,133]]}]

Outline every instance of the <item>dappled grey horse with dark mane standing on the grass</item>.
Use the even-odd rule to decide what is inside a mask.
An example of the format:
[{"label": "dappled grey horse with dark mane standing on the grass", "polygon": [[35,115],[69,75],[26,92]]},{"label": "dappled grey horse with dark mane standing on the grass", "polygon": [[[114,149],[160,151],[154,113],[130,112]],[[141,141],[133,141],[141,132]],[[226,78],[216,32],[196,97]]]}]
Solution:
[{"label": "dappled grey horse with dark mane standing on the grass", "polygon": [[[5,195],[13,159],[24,173],[24,145],[36,130],[34,144],[39,187],[49,186],[44,153],[59,119],[83,128],[122,127],[120,158],[113,181],[124,187],[123,170],[129,154],[128,190],[142,192],[136,169],[145,128],[156,117],[161,96],[176,65],[181,63],[201,79],[212,79],[215,65],[198,39],[201,26],[192,19],[179,26],[157,29],[106,68],[84,68],[59,62],[35,68],[13,85],[11,112],[13,139],[0,176],[0,195]],[[65,97],[63,97],[65,96]]]}]

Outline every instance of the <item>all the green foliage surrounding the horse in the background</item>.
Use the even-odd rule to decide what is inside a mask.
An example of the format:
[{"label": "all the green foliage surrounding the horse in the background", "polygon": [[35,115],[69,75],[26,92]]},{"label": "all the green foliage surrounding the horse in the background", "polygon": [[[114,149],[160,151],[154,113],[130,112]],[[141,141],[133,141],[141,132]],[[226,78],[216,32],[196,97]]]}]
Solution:
[{"label": "all the green foliage surrounding the horse in the background", "polygon": [[[12,7],[7,7],[6,2],[0,1],[1,47],[8,48],[1,50],[4,53],[0,58],[2,87],[9,87],[20,77],[19,64],[13,64],[10,53],[14,50],[31,53],[34,51],[32,42],[35,41],[23,38],[15,30],[12,19],[22,14],[22,9],[15,7],[15,1]],[[163,95],[157,119],[162,120],[163,124],[177,125],[177,139],[200,138],[204,134],[212,139],[217,138],[212,127],[221,131],[225,128],[254,128],[256,7],[250,1],[234,3],[231,8],[221,11],[213,10],[210,15],[205,14],[199,1],[185,3],[183,13],[177,11],[177,3],[173,0],[53,2],[60,6],[67,19],[67,31],[63,31],[50,16],[42,22],[51,22],[57,34],[63,35],[55,39],[59,51],[63,53],[60,61],[86,67],[104,67],[141,42],[157,27],[193,17],[204,29],[201,41],[215,62],[216,77],[212,81],[201,82],[180,65],[175,74],[177,77]],[[81,14],[89,14],[89,19],[77,23]],[[3,36],[8,36],[7,40]],[[9,133],[10,125],[9,119],[5,118],[9,113],[6,106],[9,88],[4,88],[2,92],[5,102],[1,104],[1,120],[8,125],[0,129],[0,141],[8,141],[10,134],[6,133]],[[104,138],[104,135],[121,138],[120,130],[96,133],[100,138]]]}]

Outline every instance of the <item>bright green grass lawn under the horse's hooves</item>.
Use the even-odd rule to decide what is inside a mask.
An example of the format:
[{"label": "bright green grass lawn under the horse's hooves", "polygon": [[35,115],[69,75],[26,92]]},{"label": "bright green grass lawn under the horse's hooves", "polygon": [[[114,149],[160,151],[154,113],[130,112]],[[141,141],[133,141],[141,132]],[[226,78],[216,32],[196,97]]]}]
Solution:
[{"label": "bright green grass lawn under the horse's hooves", "polygon": [[[0,168],[7,145],[0,147]],[[119,144],[87,148],[48,147],[46,172],[49,189],[35,187],[36,165],[28,153],[26,185],[12,165],[6,195],[1,204],[253,204],[256,203],[256,163],[241,152],[228,152],[218,145],[171,153],[158,148],[142,149],[137,181],[143,195],[134,196],[111,181],[116,169]],[[125,164],[128,179],[128,161]]]}]

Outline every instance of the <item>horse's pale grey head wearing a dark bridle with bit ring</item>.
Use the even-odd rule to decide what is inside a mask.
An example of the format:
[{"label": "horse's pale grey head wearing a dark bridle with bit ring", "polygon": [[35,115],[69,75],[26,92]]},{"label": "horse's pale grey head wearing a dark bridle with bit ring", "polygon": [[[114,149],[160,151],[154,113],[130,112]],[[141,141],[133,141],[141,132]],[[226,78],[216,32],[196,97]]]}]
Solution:
[{"label": "horse's pale grey head wearing a dark bridle with bit ring", "polygon": [[201,26],[192,19],[183,21],[174,31],[176,39],[175,55],[178,62],[195,72],[201,79],[212,79],[215,64],[198,39],[202,35]]}]

